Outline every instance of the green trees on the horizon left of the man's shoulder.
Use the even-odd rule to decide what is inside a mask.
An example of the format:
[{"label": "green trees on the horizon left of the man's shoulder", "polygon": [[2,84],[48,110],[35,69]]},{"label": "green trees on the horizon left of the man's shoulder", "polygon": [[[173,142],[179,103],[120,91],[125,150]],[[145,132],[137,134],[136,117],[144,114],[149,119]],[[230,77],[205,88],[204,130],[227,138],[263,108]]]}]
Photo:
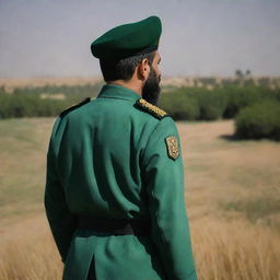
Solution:
[{"label": "green trees on the horizon left of the man's shoulder", "polygon": [[[39,88],[18,88],[12,93],[7,93],[0,88],[0,119],[21,117],[48,117],[57,116],[66,107],[81,102],[88,96],[96,96],[101,84]],[[62,94],[65,98],[57,98]],[[42,98],[46,95],[47,98]]]}]

